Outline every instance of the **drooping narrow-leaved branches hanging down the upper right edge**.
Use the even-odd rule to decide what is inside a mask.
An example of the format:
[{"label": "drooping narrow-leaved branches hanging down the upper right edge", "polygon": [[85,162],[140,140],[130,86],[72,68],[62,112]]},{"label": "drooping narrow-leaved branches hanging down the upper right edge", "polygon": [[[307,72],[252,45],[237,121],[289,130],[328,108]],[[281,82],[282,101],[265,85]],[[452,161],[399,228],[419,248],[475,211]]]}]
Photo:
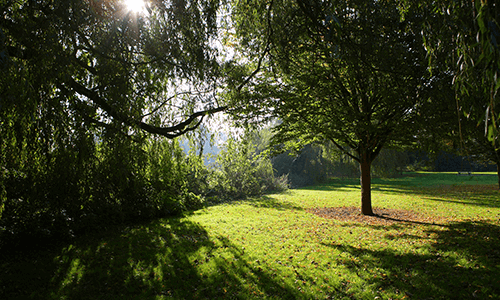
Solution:
[{"label": "drooping narrow-leaved branches hanging down the upper right edge", "polygon": [[[473,96],[472,102],[476,104],[475,109],[480,111],[479,115],[484,116],[485,135],[498,149],[500,115],[496,108],[500,101],[500,6],[494,1],[477,0],[454,4],[456,7],[449,5],[456,8],[458,13],[454,17],[460,26],[453,31],[458,46],[452,57],[457,65],[457,90],[464,98],[480,93],[482,101],[477,101]],[[470,102],[465,100],[465,105]],[[471,112],[466,113],[470,116]],[[479,119],[476,114],[474,117]]]}]

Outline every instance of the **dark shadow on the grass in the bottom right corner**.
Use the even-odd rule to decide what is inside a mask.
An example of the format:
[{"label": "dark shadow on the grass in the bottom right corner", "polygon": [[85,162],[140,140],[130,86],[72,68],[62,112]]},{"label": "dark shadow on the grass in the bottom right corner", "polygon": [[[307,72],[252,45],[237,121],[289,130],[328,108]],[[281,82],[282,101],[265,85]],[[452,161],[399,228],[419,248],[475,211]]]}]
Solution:
[{"label": "dark shadow on the grass in the bottom right corner", "polygon": [[[350,259],[339,263],[356,272],[372,290],[392,290],[414,299],[500,297],[500,226],[457,222],[446,228],[424,228],[427,235],[436,236],[436,243],[426,243],[424,247],[428,251],[421,253],[339,244],[327,246],[350,254]],[[401,245],[421,239],[412,235],[381,238],[399,239]]]}]

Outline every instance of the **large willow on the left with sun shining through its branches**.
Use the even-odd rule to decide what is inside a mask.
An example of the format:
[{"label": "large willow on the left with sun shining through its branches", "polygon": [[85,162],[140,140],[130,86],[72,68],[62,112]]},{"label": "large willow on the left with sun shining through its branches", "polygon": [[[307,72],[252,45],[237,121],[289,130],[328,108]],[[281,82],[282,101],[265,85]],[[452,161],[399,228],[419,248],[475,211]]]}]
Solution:
[{"label": "large willow on the left with sun shining through its branches", "polygon": [[146,134],[173,139],[224,109],[219,2],[146,3],[0,1],[0,213],[76,222],[101,200],[133,207]]}]

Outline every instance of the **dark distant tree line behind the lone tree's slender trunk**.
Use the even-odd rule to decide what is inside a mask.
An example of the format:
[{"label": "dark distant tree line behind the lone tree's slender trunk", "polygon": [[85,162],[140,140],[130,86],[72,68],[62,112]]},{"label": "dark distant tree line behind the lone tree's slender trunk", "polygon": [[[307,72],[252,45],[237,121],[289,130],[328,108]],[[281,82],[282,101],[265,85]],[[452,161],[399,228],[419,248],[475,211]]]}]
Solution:
[{"label": "dark distant tree line behind the lone tree's slender trunk", "polygon": [[[355,161],[347,156],[328,157],[325,148],[307,145],[299,153],[280,154],[271,159],[277,176],[287,175],[290,187],[301,187],[328,181],[331,178],[359,177]],[[495,172],[492,163],[474,160],[474,157],[460,156],[440,151],[429,154],[418,151],[384,149],[373,163],[372,176],[391,178],[403,176],[403,172]]]}]

